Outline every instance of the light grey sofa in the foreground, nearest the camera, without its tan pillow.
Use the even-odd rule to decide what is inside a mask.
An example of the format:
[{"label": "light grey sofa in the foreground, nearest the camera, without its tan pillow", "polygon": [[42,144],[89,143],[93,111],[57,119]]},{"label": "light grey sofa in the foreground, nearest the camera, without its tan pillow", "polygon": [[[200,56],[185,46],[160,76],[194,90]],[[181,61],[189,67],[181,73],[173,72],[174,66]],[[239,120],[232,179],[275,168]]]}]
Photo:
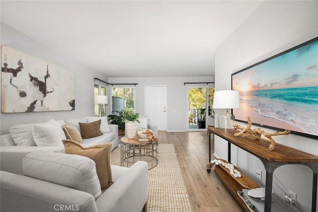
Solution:
[{"label": "light grey sofa in the foreground, nearest the camera, without its tan pillow", "polygon": [[114,183],[102,193],[95,163],[88,157],[39,150],[25,158],[24,175],[0,171],[1,212],[147,211],[144,161],[130,168],[111,165]]}]

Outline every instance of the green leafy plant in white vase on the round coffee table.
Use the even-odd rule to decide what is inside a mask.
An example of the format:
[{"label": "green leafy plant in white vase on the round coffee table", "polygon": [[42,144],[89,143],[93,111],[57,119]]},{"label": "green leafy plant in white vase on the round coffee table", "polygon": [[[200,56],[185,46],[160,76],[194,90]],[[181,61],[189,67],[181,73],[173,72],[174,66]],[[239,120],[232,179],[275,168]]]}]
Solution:
[{"label": "green leafy plant in white vase on the round coffee table", "polygon": [[124,111],[122,116],[122,122],[126,123],[126,132],[128,139],[134,139],[137,135],[137,124],[139,122],[139,113],[133,113],[132,111]]}]

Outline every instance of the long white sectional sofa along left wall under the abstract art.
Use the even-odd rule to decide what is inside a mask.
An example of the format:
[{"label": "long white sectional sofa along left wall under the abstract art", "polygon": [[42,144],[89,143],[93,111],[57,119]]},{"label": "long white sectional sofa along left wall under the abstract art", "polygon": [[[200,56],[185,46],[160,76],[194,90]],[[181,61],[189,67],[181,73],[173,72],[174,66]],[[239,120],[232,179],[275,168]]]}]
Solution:
[{"label": "long white sectional sofa along left wall under the abstract art", "polygon": [[[96,117],[82,117],[78,119],[65,119],[65,120],[50,120],[49,122],[52,123],[58,123],[60,128],[63,132],[63,126],[65,124],[71,124],[79,129],[79,122],[80,123],[88,123],[88,121],[96,120]],[[55,133],[52,135],[52,137],[55,140],[59,141],[53,141],[53,143],[49,145],[41,145],[38,146],[33,141],[32,130],[34,129],[35,125],[45,125],[47,123],[33,123],[33,124],[22,124],[22,125],[15,125],[12,126],[9,129],[10,134],[1,135],[0,136],[0,170],[11,172],[15,174],[23,174],[22,171],[22,160],[23,158],[30,152],[36,151],[36,150],[48,150],[48,151],[55,151],[55,152],[62,152],[64,153],[65,148],[60,140],[60,137],[63,137],[63,135],[59,135],[58,133]],[[95,145],[95,144],[101,144],[101,143],[112,143],[112,150],[118,146],[118,126],[117,125],[108,125],[107,118],[101,117],[101,127],[104,124],[103,127],[106,127],[106,131],[103,135],[89,138],[89,139],[82,139],[82,144],[85,146]],[[106,126],[105,126],[106,125]],[[44,126],[45,127],[45,126]],[[47,127],[47,126],[46,126]],[[108,128],[107,128],[108,127]],[[49,125],[48,129],[57,129],[56,132],[61,132],[61,129]],[[109,129],[109,130],[108,130]],[[45,133],[44,136],[50,136],[49,133]],[[49,138],[41,138],[43,140]],[[52,139],[52,140],[54,140]],[[66,138],[62,138],[66,139]],[[57,143],[57,144],[56,144]]]}]

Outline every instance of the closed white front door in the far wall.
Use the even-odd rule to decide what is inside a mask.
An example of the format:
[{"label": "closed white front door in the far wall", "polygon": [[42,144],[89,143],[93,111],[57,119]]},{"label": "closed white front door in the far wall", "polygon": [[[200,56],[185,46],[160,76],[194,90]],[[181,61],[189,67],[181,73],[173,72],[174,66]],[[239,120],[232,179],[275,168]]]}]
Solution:
[{"label": "closed white front door in the far wall", "polygon": [[145,115],[159,131],[167,130],[167,86],[145,86]]}]

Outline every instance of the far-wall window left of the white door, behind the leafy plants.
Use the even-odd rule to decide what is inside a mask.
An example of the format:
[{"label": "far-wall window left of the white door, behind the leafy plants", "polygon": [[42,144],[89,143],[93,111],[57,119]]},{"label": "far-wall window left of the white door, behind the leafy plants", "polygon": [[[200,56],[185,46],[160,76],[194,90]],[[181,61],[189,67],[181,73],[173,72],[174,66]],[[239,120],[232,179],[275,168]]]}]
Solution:
[{"label": "far-wall window left of the white door, behind the leafy plants", "polygon": [[112,88],[111,111],[132,111],[135,113],[135,88],[113,87]]}]

